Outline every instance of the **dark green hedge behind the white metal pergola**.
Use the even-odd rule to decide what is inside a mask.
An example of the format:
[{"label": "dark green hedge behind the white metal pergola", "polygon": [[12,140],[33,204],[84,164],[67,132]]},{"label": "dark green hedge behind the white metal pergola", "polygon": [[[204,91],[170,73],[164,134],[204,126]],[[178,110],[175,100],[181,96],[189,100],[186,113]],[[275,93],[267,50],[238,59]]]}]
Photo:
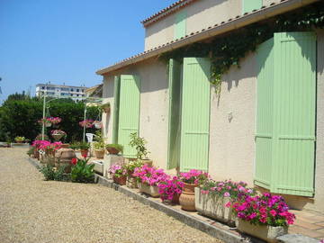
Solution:
[{"label": "dark green hedge behind the white metal pergola", "polygon": [[[58,102],[59,101],[59,102]],[[58,123],[59,130],[67,132],[67,142],[81,140],[83,128],[78,122],[84,120],[84,103],[63,102],[60,100],[49,103],[51,116],[58,116],[62,119]],[[96,107],[87,107],[87,118],[95,119],[98,115]],[[8,99],[0,106],[0,140],[13,140],[17,136],[34,140],[40,134],[41,126],[37,122],[42,118],[42,101],[37,98],[14,100]],[[48,135],[53,128],[47,128]],[[94,132],[94,129],[87,129]],[[51,136],[49,136],[51,138]]]}]

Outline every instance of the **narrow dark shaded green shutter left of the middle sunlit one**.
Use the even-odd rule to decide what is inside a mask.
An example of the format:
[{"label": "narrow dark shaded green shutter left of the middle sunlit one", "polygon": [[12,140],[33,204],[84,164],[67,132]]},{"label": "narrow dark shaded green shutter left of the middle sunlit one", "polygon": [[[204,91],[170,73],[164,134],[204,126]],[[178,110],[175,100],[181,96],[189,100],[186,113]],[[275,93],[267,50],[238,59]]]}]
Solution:
[{"label": "narrow dark shaded green shutter left of the middle sunlit one", "polygon": [[179,166],[180,159],[180,92],[181,64],[175,59],[169,60],[169,114],[167,168]]}]

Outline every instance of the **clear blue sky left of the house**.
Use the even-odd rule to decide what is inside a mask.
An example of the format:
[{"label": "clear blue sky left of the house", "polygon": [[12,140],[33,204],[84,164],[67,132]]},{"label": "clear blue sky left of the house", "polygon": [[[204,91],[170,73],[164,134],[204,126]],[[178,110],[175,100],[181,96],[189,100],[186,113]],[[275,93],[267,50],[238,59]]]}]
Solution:
[{"label": "clear blue sky left of the house", "polygon": [[142,51],[140,21],[173,2],[0,0],[0,103],[38,83],[100,83],[94,72]]}]

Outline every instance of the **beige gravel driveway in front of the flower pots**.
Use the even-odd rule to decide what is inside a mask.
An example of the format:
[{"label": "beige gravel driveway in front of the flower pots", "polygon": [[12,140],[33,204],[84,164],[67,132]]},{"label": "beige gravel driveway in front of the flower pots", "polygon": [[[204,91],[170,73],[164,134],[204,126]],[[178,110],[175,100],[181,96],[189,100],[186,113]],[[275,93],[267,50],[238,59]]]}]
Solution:
[{"label": "beige gravel driveway in front of the flower pots", "polygon": [[0,148],[0,242],[221,242],[99,184],[46,182]]}]

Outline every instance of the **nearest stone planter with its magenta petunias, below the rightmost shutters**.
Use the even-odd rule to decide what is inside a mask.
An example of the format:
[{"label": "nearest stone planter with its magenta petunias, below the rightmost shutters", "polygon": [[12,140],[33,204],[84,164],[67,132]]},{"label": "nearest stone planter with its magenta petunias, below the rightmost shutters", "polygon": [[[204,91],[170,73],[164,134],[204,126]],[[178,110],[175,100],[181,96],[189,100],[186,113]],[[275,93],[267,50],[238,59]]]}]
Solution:
[{"label": "nearest stone planter with its magenta petunias, below the rightmost shutters", "polygon": [[270,193],[243,194],[231,207],[238,216],[238,230],[266,242],[276,242],[275,238],[287,234],[295,219],[284,198]]}]

